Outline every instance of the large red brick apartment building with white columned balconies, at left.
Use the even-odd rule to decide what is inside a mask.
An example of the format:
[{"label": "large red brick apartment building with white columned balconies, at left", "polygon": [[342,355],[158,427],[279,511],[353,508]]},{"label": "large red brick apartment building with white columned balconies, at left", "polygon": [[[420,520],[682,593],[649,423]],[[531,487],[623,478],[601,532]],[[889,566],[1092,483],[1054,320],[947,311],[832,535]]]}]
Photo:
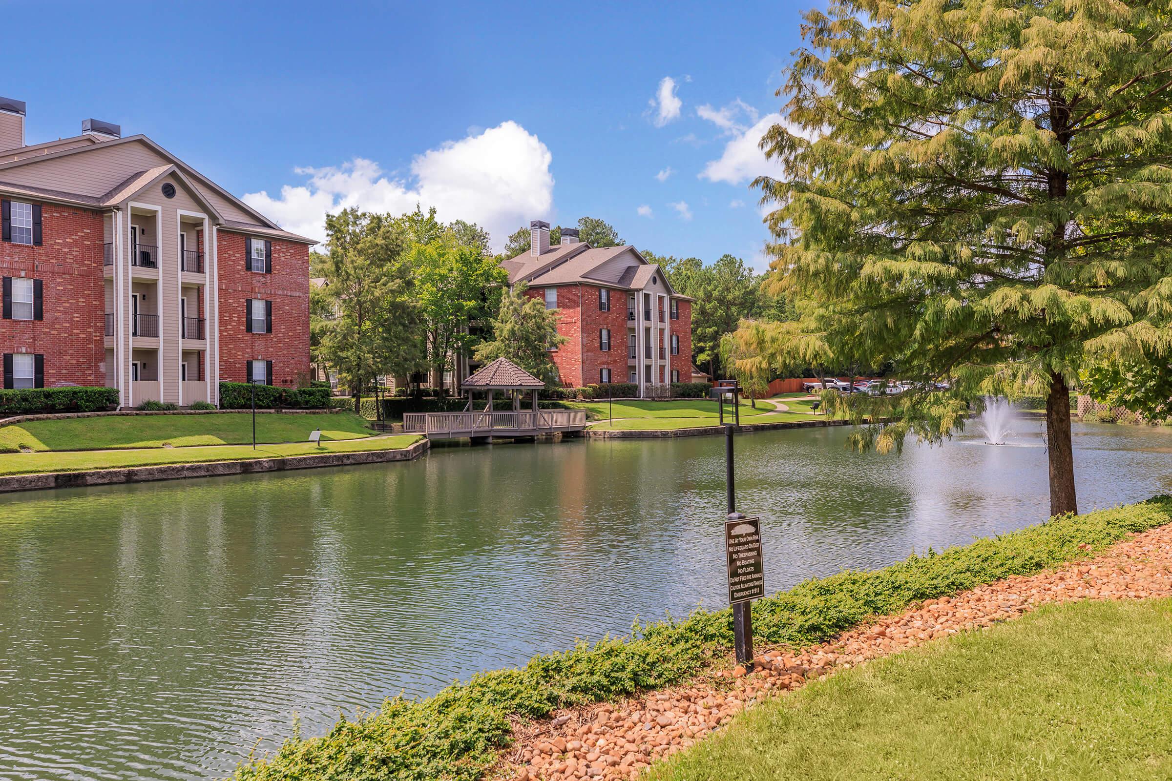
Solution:
[{"label": "large red brick apartment building with white columned balconies, at left", "polygon": [[96,119],[25,143],[0,98],[5,388],[217,403],[309,372],[309,245],[145,136]]}]

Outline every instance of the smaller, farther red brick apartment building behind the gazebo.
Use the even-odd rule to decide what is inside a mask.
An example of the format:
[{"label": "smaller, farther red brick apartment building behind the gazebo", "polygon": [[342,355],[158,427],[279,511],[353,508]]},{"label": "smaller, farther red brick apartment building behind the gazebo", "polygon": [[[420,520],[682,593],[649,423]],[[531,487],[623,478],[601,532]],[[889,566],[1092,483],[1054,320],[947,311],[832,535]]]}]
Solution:
[{"label": "smaller, farther red brick apartment building behind the gazebo", "polygon": [[657,396],[691,382],[691,299],[672,289],[634,247],[591,247],[575,228],[550,246],[550,224],[530,222],[530,251],[504,261],[509,283],[558,309],[566,342],[553,354],[561,384],[631,382]]}]

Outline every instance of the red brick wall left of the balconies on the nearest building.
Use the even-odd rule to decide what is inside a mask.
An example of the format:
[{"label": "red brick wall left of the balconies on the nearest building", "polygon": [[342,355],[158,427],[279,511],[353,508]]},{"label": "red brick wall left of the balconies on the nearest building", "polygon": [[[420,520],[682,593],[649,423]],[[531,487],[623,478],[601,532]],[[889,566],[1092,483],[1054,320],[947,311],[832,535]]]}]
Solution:
[{"label": "red brick wall left of the balconies on the nearest building", "polygon": [[46,388],[104,385],[102,214],[41,204],[41,234],[40,246],[0,241],[0,276],[41,280],[43,313],[0,320],[0,352],[43,355]]}]

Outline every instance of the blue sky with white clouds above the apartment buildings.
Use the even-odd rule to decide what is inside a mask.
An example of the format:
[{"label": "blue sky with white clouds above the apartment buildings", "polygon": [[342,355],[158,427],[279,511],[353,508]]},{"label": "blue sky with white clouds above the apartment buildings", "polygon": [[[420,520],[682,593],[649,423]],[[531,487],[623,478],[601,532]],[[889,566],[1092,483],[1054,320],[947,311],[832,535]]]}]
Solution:
[{"label": "blue sky with white clouds above the apartment buildings", "polygon": [[115,122],[313,235],[422,200],[496,247],[588,214],[763,268],[755,143],[810,5],[4,2],[0,95],[29,143]]}]

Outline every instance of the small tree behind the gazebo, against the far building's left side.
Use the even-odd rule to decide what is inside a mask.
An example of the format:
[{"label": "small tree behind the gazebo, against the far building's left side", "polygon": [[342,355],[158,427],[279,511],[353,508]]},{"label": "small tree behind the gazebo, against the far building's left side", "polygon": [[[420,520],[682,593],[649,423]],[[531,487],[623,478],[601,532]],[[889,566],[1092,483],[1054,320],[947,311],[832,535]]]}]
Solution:
[{"label": "small tree behind the gazebo, against the far building's left side", "polygon": [[477,361],[509,358],[518,366],[552,388],[560,382],[558,366],[550,350],[566,342],[558,335],[558,310],[546,309],[540,299],[525,295],[525,283],[500,297],[500,308],[492,321],[493,338],[476,348]]}]

